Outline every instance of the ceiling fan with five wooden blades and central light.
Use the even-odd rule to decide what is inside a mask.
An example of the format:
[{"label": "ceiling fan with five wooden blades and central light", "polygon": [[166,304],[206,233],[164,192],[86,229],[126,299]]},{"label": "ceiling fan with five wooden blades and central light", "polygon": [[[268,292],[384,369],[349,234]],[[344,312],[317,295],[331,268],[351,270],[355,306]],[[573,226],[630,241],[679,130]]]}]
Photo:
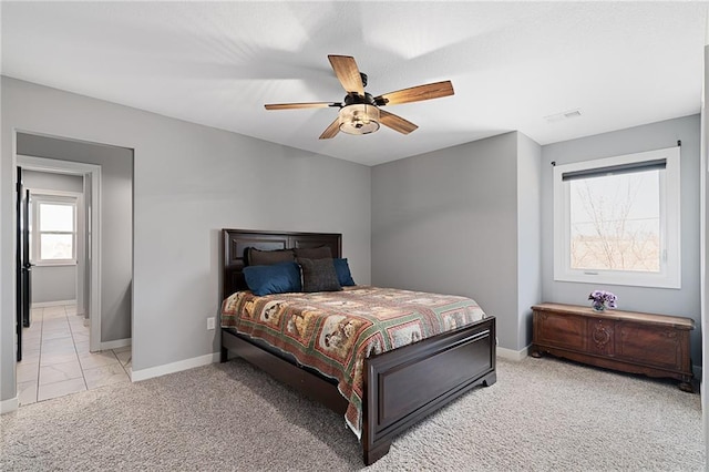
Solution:
[{"label": "ceiling fan with five wooden blades and central light", "polygon": [[342,102],[274,103],[265,105],[266,110],[340,109],[338,117],[322,132],[320,140],[335,137],[340,131],[348,134],[373,133],[379,130],[380,123],[399,133],[409,134],[419,126],[401,116],[380,110],[380,106],[421,102],[453,94],[453,84],[446,80],[372,96],[364,92],[367,74],[359,71],[354,58],[331,54],[328,59],[335,75],[347,92]]}]

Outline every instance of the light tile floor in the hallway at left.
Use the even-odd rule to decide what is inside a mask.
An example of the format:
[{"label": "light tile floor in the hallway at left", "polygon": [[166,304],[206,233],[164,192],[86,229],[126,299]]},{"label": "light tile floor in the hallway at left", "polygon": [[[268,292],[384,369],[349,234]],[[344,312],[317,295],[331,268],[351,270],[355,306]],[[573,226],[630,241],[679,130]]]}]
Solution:
[{"label": "light tile floor in the hallway at left", "polygon": [[131,347],[89,352],[83,321],[71,305],[32,309],[18,362],[20,406],[131,381]]}]

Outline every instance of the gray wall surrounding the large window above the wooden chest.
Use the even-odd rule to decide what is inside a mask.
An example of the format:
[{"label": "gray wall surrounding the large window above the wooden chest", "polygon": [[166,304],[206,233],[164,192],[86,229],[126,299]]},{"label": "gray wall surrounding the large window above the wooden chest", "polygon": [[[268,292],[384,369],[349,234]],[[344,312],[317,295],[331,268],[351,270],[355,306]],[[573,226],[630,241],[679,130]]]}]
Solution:
[{"label": "gray wall surrounding the large window above the wooden chest", "polygon": [[[681,289],[602,286],[554,281],[554,195],[552,161],[557,164],[588,161],[671,147],[681,140]],[[610,290],[620,309],[678,315],[693,318],[692,363],[701,365],[700,276],[699,276],[699,115],[668,120],[542,147],[542,276],[545,300],[587,302],[590,290]]]}]

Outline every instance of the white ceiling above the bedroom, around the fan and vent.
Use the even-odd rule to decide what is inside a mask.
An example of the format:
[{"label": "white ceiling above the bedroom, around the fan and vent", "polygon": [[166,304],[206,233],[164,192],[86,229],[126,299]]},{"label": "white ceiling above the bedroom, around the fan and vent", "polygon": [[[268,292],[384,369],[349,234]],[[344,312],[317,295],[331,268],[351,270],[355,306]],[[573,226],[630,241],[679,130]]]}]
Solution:
[{"label": "white ceiling above the bedroom, around the fan and vent", "polygon": [[[2,2],[2,74],[374,165],[521,131],[540,144],[698,113],[708,2]],[[340,102],[327,54],[420,127],[318,136]],[[580,109],[582,115],[544,117]]]}]

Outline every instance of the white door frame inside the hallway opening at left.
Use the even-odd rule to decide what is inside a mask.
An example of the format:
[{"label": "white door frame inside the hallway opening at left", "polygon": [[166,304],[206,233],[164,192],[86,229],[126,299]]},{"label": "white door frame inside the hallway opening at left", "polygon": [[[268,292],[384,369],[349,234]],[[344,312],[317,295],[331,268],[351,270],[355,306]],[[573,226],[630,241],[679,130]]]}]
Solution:
[{"label": "white door frame inside the hallway opening at left", "polygon": [[[101,166],[56,158],[34,157],[16,154],[16,166],[28,171],[49,172],[54,174],[81,175],[91,179],[91,211],[85,222],[85,230],[89,232],[89,255],[91,267],[90,280],[90,307],[91,320],[89,350],[101,350]],[[17,198],[17,196],[16,196]],[[16,225],[18,222],[16,222]],[[17,235],[14,235],[17,238]],[[19,242],[16,242],[19,244]],[[79,301],[79,300],[76,300]]]}]

